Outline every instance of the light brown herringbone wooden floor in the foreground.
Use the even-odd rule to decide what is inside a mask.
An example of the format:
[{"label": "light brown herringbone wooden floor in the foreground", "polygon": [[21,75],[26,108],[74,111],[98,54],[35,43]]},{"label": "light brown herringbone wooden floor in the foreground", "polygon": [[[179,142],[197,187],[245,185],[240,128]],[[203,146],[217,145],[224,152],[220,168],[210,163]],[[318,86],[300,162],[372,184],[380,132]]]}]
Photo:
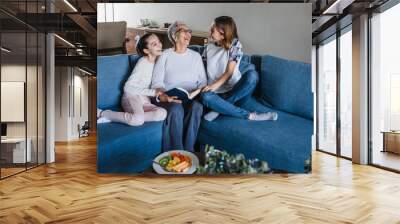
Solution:
[{"label": "light brown herringbone wooden floor in the foreground", "polygon": [[400,175],[320,152],[313,173],[145,177],[96,173],[94,137],[0,181],[0,223],[400,223]]}]

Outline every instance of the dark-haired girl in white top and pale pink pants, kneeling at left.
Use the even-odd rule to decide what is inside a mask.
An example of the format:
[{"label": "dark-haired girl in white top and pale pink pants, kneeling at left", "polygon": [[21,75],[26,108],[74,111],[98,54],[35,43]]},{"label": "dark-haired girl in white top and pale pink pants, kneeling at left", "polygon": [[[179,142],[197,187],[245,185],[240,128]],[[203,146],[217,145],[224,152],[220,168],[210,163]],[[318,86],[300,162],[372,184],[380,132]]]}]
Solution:
[{"label": "dark-haired girl in white top and pale pink pants, kneeling at left", "polygon": [[165,97],[161,90],[150,88],[154,63],[162,53],[162,44],[155,34],[147,33],[139,39],[136,51],[142,57],[124,86],[121,106],[125,112],[97,109],[98,123],[114,121],[138,126],[146,121],[162,121],[166,118],[167,111],[151,104],[149,99]]}]

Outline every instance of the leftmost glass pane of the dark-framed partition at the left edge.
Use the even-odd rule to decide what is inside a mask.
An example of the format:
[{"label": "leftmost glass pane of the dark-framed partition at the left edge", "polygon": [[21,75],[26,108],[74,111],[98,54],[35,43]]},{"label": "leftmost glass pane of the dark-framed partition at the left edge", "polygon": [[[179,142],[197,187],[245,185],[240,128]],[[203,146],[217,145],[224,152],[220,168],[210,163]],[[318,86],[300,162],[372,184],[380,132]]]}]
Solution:
[{"label": "leftmost glass pane of the dark-framed partition at the left edge", "polygon": [[24,171],[31,152],[26,141],[26,33],[1,34],[1,176]]}]

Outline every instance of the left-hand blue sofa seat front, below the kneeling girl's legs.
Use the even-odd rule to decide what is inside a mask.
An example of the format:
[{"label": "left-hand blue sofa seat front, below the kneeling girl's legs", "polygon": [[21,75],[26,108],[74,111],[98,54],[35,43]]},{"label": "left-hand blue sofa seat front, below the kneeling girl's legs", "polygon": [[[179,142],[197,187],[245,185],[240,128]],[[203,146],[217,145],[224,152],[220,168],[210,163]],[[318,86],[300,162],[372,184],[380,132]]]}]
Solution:
[{"label": "left-hand blue sofa seat front, below the kneeling girl's legs", "polygon": [[161,152],[162,122],[142,126],[120,123],[97,125],[98,171],[137,173],[148,169]]}]

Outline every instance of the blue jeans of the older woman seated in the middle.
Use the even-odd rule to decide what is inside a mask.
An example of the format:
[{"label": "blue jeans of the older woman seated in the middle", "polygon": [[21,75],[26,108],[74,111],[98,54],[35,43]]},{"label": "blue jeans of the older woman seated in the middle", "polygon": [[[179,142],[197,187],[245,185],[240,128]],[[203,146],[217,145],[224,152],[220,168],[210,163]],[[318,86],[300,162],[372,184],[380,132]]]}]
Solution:
[{"label": "blue jeans of the older woman seated in the middle", "polygon": [[203,114],[203,105],[196,100],[186,104],[153,103],[168,111],[163,125],[163,151],[194,151],[201,115]]}]

